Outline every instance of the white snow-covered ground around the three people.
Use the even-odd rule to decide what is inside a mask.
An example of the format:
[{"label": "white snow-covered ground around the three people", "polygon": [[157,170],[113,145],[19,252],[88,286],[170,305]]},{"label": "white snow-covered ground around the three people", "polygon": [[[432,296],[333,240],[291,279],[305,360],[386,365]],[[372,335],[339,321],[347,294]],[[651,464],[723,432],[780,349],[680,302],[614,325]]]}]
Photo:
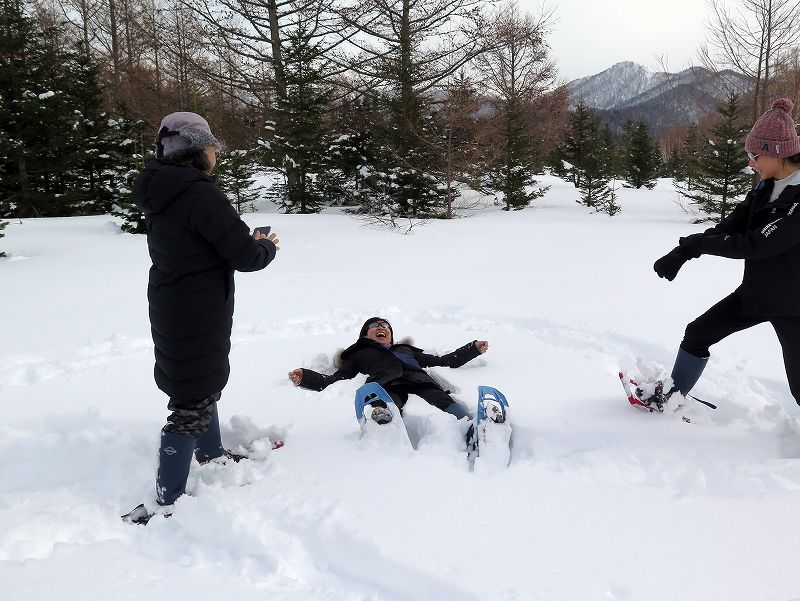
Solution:
[{"label": "white snow-covered ground around the three people", "polygon": [[[144,236],[110,217],[12,222],[0,247],[0,598],[303,601],[789,601],[800,598],[796,409],[769,326],[715,347],[694,422],[627,404],[619,367],[671,365],[688,321],[741,263],[653,261],[700,231],[667,181],[589,214],[559,180],[536,205],[489,206],[409,235],[335,211],[248,214],[281,251],[237,275],[220,413],[232,466],[195,464],[190,496],[147,527],[166,398],[152,379]],[[472,407],[511,402],[503,471],[470,472],[459,429],[412,397],[416,450],[359,440],[353,393],[323,368],[365,318],[446,352]],[[270,452],[268,435],[285,437]]]}]

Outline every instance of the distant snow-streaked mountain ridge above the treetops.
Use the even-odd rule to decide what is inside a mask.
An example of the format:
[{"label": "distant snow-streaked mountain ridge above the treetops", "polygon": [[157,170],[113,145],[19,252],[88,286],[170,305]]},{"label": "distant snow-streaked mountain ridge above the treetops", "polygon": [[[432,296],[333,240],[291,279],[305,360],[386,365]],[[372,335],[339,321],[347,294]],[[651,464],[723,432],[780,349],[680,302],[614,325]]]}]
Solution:
[{"label": "distant snow-streaked mountain ridge above the treetops", "polygon": [[716,73],[692,67],[678,73],[653,72],[630,61],[567,84],[570,102],[582,100],[615,133],[633,119],[647,123],[651,134],[696,123],[715,111],[729,90],[743,92],[750,86],[749,78],[731,70]]}]

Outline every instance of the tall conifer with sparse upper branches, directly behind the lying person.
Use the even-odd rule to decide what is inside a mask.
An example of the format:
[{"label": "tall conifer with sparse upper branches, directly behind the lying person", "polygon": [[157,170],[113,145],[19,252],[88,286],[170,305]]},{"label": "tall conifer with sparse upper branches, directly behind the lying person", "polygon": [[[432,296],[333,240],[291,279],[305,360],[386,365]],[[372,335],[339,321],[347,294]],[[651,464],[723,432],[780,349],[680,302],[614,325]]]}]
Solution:
[{"label": "tall conifer with sparse upper branches, directly behind the lying person", "polygon": [[[447,217],[447,119],[436,116],[450,78],[483,50],[481,0],[355,2],[341,10],[357,33],[352,72],[387,113],[364,179],[362,210]],[[398,185],[403,182],[403,185]],[[370,207],[373,208],[370,208]]]}]

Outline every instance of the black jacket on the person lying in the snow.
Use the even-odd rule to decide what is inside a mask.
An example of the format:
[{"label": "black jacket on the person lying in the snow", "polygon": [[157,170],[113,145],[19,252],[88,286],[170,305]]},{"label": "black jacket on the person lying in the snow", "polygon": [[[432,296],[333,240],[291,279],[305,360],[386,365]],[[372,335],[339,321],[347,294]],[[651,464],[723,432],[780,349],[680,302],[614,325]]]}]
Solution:
[{"label": "black jacket on the person lying in the snow", "polygon": [[[396,353],[416,362],[419,369],[409,363],[401,361]],[[303,379],[300,381],[302,388],[322,390],[339,380],[349,380],[362,373],[369,376],[367,382],[377,382],[384,388],[391,388],[392,384],[431,384],[438,386],[421,368],[424,367],[461,367],[471,361],[480,351],[474,342],[446,355],[429,355],[422,349],[410,344],[395,344],[387,348],[379,342],[369,338],[359,338],[355,344],[342,351],[342,364],[335,373],[326,376],[310,369],[303,369]]]}]

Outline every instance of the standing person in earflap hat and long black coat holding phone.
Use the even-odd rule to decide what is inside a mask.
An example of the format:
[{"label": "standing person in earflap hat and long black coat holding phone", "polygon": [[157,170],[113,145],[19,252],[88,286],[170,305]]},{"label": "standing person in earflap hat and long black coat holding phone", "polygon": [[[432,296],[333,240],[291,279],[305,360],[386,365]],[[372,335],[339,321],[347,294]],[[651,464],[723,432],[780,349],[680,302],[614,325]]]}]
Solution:
[{"label": "standing person in earflap hat and long black coat holding phone", "polygon": [[[275,258],[275,234],[250,235],[214,184],[219,142],[194,113],[164,117],[156,159],[139,174],[133,195],[147,222],[153,265],[147,287],[155,344],[155,380],[172,412],[161,433],[156,502],[184,493],[194,454],[227,455],[217,402],[228,382],[234,271],[257,271]],[[144,505],[129,521],[147,523]]]}]

